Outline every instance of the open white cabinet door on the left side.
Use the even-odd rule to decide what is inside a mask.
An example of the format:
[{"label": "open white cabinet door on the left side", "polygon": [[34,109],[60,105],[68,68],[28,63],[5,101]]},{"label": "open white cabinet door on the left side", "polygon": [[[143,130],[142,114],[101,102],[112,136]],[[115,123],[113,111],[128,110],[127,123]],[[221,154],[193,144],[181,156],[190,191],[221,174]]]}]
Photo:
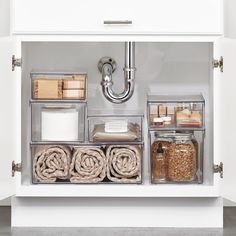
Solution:
[{"label": "open white cabinet door on the left side", "polygon": [[16,72],[12,71],[14,45],[12,39],[0,38],[0,200],[15,193],[11,176],[12,160],[17,152],[17,84]]}]

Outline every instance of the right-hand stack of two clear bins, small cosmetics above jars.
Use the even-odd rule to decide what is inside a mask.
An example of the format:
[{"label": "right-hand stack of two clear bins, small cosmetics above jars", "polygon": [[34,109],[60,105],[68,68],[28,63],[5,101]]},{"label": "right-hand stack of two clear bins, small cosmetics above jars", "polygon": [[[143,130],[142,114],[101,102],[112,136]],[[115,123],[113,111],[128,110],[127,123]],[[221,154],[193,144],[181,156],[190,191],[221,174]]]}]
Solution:
[{"label": "right-hand stack of two clear bins, small cosmetics above jars", "polygon": [[202,95],[148,96],[151,183],[202,183]]}]

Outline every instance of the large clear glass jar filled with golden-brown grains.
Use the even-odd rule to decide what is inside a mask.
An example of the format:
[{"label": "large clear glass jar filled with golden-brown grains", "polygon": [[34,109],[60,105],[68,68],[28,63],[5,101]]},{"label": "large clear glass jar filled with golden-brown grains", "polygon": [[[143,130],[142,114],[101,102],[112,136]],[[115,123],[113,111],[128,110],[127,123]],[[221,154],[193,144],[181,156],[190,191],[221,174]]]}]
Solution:
[{"label": "large clear glass jar filled with golden-brown grains", "polygon": [[190,182],[196,176],[197,150],[191,133],[176,134],[167,158],[168,179],[175,182]]}]

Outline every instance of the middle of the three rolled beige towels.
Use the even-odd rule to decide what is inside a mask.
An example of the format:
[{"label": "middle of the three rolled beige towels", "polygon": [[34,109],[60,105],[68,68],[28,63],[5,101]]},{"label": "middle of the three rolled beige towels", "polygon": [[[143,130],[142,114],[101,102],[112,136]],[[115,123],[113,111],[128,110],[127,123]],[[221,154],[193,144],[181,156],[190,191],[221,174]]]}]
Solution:
[{"label": "middle of the three rolled beige towels", "polygon": [[72,183],[98,183],[106,176],[107,160],[97,147],[79,147],[73,154],[70,166]]}]

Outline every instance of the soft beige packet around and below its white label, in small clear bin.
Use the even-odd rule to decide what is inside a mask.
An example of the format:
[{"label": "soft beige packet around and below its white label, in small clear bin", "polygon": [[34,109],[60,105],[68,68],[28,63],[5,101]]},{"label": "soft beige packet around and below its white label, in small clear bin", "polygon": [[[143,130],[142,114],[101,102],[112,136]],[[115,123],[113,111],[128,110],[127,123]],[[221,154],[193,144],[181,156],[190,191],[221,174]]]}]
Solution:
[{"label": "soft beige packet around and below its white label, in small clear bin", "polygon": [[92,132],[93,141],[99,142],[125,142],[135,141],[140,138],[140,126],[138,124],[129,124],[129,130],[125,133],[106,133],[105,124],[97,124]]}]

